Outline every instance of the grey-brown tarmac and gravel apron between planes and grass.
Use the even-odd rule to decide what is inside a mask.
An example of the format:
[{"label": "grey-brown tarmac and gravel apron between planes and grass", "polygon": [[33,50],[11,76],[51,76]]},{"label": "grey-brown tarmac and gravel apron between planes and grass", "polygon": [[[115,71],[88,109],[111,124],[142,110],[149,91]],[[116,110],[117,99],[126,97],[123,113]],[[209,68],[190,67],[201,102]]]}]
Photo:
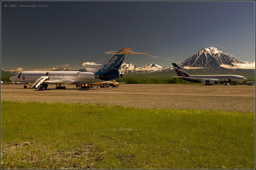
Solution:
[{"label": "grey-brown tarmac and gravel apron between planes and grass", "polygon": [[255,86],[236,85],[142,85],[119,88],[23,89],[23,85],[1,85],[1,101],[100,103],[140,108],[178,108],[255,112]]}]

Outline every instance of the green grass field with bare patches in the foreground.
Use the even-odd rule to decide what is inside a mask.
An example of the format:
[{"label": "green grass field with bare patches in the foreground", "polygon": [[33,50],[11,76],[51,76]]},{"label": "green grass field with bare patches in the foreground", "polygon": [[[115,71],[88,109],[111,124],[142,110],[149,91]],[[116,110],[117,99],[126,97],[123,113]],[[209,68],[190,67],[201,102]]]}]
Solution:
[{"label": "green grass field with bare patches in the foreground", "polygon": [[255,113],[1,102],[3,169],[255,169]]}]

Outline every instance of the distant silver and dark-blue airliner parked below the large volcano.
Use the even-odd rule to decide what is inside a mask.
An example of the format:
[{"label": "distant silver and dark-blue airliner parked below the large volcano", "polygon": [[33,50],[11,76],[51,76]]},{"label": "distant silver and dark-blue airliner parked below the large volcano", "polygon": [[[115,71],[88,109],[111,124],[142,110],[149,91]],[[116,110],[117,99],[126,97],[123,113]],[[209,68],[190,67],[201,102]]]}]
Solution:
[{"label": "distant silver and dark-blue airliner parked below the large volcano", "polygon": [[187,74],[182,68],[180,68],[176,63],[172,63],[174,66],[174,69],[178,76],[172,76],[172,77],[178,77],[186,81],[191,81],[195,83],[205,83],[205,85],[212,85],[212,84],[220,84],[224,83],[227,85],[227,83],[236,83],[245,81],[246,78],[243,76],[238,75],[189,75]]}]

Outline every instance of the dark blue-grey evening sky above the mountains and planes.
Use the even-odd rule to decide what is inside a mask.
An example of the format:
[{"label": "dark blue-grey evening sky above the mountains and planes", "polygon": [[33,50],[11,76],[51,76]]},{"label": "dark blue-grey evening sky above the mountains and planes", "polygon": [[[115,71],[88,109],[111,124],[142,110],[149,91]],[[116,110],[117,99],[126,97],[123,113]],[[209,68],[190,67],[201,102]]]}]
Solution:
[{"label": "dark blue-grey evening sky above the mountains and planes", "polygon": [[254,62],[255,1],[1,1],[3,70],[83,68],[122,48],[168,67],[209,46]]}]

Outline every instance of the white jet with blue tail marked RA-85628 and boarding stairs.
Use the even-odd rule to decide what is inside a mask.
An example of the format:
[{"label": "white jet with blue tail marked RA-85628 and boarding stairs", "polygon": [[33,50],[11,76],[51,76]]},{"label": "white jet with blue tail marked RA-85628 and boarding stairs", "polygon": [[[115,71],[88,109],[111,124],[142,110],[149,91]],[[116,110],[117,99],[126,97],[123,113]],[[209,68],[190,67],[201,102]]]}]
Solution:
[{"label": "white jet with blue tail marked RA-85628 and boarding stairs", "polygon": [[[127,54],[149,54],[130,51],[131,48],[123,48],[120,51],[110,51],[112,56],[103,64],[86,64],[86,71],[24,71],[11,76],[11,81],[33,83],[31,87],[37,88],[42,83],[56,84],[55,89],[66,89],[61,84],[87,84],[100,83],[121,78],[119,68]],[[89,87],[87,87],[89,88]]]}]

